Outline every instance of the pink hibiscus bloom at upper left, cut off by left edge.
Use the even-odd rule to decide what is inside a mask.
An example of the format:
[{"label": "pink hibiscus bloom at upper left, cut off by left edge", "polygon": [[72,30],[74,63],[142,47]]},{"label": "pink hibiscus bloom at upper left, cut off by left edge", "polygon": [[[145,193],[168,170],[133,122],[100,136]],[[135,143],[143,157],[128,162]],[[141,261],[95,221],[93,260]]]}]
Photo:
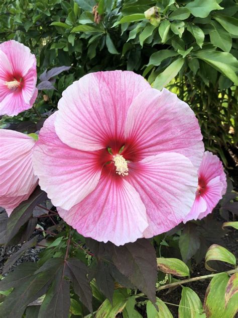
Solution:
[{"label": "pink hibiscus bloom at upper left, cut off by left edge", "polygon": [[0,115],[15,116],[36,100],[36,57],[29,47],[10,40],[0,44]]}]

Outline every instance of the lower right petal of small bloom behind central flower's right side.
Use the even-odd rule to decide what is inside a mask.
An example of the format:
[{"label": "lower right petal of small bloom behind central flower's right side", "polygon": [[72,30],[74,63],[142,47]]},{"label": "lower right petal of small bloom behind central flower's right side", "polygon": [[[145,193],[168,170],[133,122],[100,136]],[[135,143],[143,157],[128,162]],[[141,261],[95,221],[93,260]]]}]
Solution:
[{"label": "lower right petal of small bloom behind central flower's right side", "polygon": [[202,194],[202,198],[206,201],[207,209],[205,212],[199,214],[198,219],[202,219],[211,213],[213,208],[222,198],[223,183],[220,181],[219,177],[215,177],[210,180],[206,185],[206,191]]}]

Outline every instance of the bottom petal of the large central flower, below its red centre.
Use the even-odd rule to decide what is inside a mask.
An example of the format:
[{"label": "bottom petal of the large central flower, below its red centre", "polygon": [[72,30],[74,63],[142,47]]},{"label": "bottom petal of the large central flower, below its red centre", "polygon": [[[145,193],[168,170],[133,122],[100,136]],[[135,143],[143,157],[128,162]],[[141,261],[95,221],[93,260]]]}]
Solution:
[{"label": "bottom petal of the large central flower, below its red centre", "polygon": [[124,178],[104,175],[82,202],[60,216],[80,234],[115,245],[135,242],[148,226],[139,194]]}]

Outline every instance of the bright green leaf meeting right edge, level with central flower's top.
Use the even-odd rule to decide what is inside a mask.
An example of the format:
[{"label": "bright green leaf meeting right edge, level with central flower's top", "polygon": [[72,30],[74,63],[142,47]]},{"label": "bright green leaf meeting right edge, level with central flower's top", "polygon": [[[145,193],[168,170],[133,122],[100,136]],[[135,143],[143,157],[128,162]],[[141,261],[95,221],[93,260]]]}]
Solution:
[{"label": "bright green leaf meeting right edge, level with central flower's top", "polygon": [[213,66],[235,85],[238,85],[238,78],[235,74],[235,71],[238,70],[238,61],[232,54],[208,50],[197,52],[195,56]]}]

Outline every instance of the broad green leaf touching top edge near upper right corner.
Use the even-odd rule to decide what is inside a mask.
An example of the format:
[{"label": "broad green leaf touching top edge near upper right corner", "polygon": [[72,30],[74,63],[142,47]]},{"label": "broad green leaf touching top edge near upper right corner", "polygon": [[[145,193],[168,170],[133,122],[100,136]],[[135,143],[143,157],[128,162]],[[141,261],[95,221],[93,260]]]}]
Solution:
[{"label": "broad green leaf touching top edge near upper right corner", "polygon": [[222,10],[215,0],[195,0],[189,2],[185,8],[191,12],[194,17],[206,18],[212,10]]}]

